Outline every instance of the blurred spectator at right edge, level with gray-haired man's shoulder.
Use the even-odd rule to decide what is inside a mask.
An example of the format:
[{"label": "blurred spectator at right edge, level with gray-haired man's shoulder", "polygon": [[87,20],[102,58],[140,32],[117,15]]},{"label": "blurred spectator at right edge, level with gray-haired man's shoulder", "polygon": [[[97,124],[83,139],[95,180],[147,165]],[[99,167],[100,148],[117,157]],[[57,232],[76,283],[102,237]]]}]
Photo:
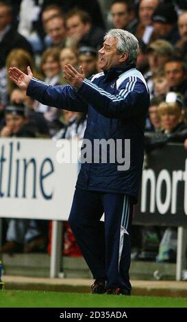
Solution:
[{"label": "blurred spectator at right edge, level with gray-haired man's shoulder", "polygon": [[[187,107],[187,66],[186,62],[171,58],[164,64],[164,72],[171,92],[179,92],[184,97],[184,106]],[[185,108],[184,108],[185,109]]]}]

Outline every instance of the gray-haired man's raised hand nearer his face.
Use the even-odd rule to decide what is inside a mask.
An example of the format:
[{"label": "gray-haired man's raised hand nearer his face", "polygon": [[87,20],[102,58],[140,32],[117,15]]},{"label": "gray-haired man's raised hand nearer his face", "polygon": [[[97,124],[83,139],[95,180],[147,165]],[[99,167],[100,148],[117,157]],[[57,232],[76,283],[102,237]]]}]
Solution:
[{"label": "gray-haired man's raised hand nearer his face", "polygon": [[79,66],[78,72],[76,71],[76,69],[74,69],[73,66],[71,66],[71,64],[66,64],[64,66],[63,73],[66,81],[68,81],[75,88],[79,88],[85,78],[84,69],[82,68],[82,66]]}]

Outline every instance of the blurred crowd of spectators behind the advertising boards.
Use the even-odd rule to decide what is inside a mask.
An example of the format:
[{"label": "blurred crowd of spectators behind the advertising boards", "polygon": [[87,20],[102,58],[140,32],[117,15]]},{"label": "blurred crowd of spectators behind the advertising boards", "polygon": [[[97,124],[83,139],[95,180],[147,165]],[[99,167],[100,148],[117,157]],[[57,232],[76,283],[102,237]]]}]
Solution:
[{"label": "blurred crowd of spectators behind the advertising boards", "polygon": [[[63,66],[82,65],[86,77],[100,72],[97,51],[108,29],[139,40],[137,69],[151,96],[146,151],[177,140],[187,149],[187,3],[180,0],[114,0],[103,18],[100,1],[0,1],[0,137],[82,138],[86,115],[44,106],[8,79],[16,66],[52,85],[64,85]],[[160,134],[159,140],[154,135]],[[175,135],[177,134],[177,135]],[[8,221],[0,252],[47,249],[47,227],[38,221]],[[69,227],[66,227],[71,240]],[[32,233],[29,233],[32,232]],[[19,238],[16,238],[18,236]],[[66,238],[67,239],[67,238]],[[139,247],[140,245],[135,245]],[[68,251],[66,251],[68,254]]]}]

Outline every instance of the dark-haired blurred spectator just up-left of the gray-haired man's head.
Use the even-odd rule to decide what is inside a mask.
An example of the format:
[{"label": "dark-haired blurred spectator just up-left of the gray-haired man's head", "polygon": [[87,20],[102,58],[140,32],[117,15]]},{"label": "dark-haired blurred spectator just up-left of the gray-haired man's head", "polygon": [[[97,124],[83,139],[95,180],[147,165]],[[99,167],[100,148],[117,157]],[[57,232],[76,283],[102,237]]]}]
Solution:
[{"label": "dark-haired blurred spectator just up-left of the gray-haired man's head", "polygon": [[68,47],[90,46],[98,49],[103,43],[104,31],[92,24],[88,12],[72,10],[66,15]]}]

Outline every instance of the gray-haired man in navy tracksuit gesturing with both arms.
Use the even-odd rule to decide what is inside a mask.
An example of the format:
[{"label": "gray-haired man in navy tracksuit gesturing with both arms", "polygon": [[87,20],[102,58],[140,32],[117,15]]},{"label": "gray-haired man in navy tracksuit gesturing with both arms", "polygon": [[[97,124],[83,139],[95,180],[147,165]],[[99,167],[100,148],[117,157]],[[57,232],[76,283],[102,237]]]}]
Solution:
[{"label": "gray-haired man in navy tracksuit gesturing with both arms", "polygon": [[[137,202],[142,173],[145,116],[149,91],[142,74],[136,70],[138,40],[121,29],[111,29],[99,50],[98,73],[84,78],[80,66],[64,67],[71,85],[50,86],[15,67],[10,78],[27,95],[43,104],[77,112],[88,112],[85,142],[112,142],[128,154],[129,166],[117,158],[110,162],[108,147],[99,151],[99,162],[91,156],[84,162],[77,179],[69,223],[92,271],[92,293],[130,295],[130,227],[133,204]],[[125,142],[130,149],[125,149]],[[121,144],[121,145],[120,145]],[[83,143],[84,150],[84,143]],[[83,151],[82,150],[82,151]],[[88,153],[94,151],[91,148]],[[99,151],[99,152],[98,152]],[[102,162],[105,153],[106,162]],[[96,156],[98,157],[98,156]],[[105,229],[100,221],[105,214]]]}]

